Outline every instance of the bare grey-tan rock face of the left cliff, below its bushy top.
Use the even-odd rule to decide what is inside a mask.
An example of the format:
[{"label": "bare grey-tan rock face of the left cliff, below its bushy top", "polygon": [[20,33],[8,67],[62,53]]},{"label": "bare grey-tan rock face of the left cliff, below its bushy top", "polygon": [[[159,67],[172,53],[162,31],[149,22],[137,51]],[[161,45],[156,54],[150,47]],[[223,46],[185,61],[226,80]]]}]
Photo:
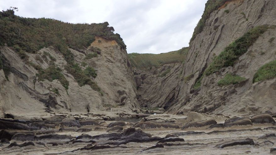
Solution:
[{"label": "bare grey-tan rock face of the left cliff, below its bushy top", "polygon": [[[101,53],[86,60],[85,56],[91,52],[89,51],[91,46],[100,48]],[[87,63],[86,66],[97,70],[97,77],[93,81],[101,88],[103,95],[89,85],[80,87],[75,78],[64,69],[67,62],[55,48],[43,48],[37,54],[27,53],[29,59],[25,61],[11,48],[1,47],[4,65],[11,71],[9,75],[6,74],[7,80],[3,70],[0,70],[1,117],[4,113],[42,115],[49,110],[93,113],[99,110],[105,111],[110,107],[113,110],[123,109],[126,112],[139,109],[127,52],[115,41],[100,37],[96,37],[91,46],[82,52],[69,50],[74,54],[77,63],[81,64],[84,61]],[[45,55],[45,52],[49,55]],[[56,59],[55,66],[62,69],[64,77],[69,81],[68,90],[58,80],[52,82],[37,80],[38,71],[34,65],[30,65],[30,62],[46,69],[52,63],[50,56]],[[58,89],[58,94],[50,91],[55,88]]]}]

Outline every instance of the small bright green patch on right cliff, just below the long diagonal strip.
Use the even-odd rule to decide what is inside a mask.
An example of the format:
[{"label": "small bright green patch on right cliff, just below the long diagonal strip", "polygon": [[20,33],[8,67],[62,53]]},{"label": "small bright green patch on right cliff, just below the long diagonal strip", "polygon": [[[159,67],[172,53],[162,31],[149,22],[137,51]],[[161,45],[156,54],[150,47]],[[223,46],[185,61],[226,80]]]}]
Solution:
[{"label": "small bright green patch on right cliff, just below the long diagonal strip", "polygon": [[228,86],[231,84],[236,84],[245,81],[245,77],[240,77],[238,75],[231,75],[231,74],[226,74],[224,78],[220,79],[218,81],[219,86]]}]

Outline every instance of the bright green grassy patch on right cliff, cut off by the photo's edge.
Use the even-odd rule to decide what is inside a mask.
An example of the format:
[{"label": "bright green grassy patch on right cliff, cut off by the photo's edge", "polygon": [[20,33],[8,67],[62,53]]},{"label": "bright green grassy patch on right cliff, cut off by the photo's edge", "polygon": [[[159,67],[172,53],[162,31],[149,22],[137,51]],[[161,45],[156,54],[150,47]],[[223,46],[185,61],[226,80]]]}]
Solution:
[{"label": "bright green grassy patch on right cliff, cut off by the photo's edge", "polygon": [[276,77],[276,60],[270,61],[257,70],[253,83]]}]

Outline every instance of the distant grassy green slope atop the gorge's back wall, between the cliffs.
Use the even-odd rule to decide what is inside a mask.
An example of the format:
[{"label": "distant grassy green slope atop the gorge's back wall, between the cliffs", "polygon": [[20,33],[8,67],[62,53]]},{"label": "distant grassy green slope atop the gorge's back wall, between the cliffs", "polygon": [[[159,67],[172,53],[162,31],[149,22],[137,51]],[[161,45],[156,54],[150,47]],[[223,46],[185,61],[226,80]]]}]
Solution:
[{"label": "distant grassy green slope atop the gorge's back wall, between the cliffs", "polygon": [[128,54],[132,67],[135,68],[150,68],[159,67],[164,64],[183,62],[186,57],[186,53],[189,51],[188,47],[183,47],[178,51],[172,51],[168,53],[160,54],[139,54],[130,53]]}]

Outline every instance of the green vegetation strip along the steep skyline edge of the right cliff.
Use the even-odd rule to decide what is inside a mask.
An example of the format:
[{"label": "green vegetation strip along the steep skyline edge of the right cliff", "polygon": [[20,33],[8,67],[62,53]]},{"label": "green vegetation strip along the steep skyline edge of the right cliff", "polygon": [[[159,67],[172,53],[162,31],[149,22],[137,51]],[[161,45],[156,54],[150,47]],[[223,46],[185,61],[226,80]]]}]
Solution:
[{"label": "green vegetation strip along the steep skyline edge of the right cliff", "polygon": [[217,10],[219,7],[223,6],[227,1],[230,1],[230,0],[208,0],[207,1],[207,3],[205,4],[205,9],[201,16],[201,19],[197,23],[194,33],[190,39],[190,43],[196,38],[197,34],[202,32],[205,26],[206,20],[210,17],[210,14],[213,11]]}]

